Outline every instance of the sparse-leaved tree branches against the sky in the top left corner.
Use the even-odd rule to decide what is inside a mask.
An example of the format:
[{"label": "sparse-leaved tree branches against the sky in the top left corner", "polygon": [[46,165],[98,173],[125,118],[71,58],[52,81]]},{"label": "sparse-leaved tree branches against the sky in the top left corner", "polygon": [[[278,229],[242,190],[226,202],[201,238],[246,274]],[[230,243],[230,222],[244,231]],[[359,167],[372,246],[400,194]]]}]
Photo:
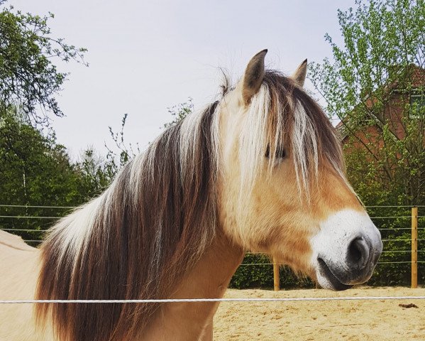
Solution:
[{"label": "sparse-leaved tree branches against the sky in the top left corner", "polygon": [[86,49],[53,37],[48,26],[53,17],[53,13],[38,16],[13,11],[6,0],[0,0],[0,114],[19,105],[31,124],[43,126],[49,114],[63,116],[55,95],[67,73],[57,70],[53,58],[87,65]]}]

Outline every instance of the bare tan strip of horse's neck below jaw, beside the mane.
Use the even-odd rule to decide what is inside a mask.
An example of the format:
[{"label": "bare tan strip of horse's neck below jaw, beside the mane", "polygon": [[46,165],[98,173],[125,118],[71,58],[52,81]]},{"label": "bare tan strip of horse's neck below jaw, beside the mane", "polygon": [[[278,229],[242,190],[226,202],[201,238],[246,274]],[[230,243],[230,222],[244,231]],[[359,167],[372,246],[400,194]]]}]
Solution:
[{"label": "bare tan strip of horse's neck below jaw, beside the mane", "polygon": [[[243,259],[244,251],[218,232],[171,298],[221,298]],[[143,340],[212,340],[218,302],[166,303]]]}]

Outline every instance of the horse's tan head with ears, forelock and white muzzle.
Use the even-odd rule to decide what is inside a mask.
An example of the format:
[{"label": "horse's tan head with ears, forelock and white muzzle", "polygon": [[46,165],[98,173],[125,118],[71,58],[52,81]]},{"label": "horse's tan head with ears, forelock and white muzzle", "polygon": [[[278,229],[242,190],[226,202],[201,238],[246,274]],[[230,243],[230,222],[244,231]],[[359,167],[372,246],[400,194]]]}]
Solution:
[{"label": "horse's tan head with ears, forelock and white muzzle", "polygon": [[344,290],[368,281],[380,232],[345,175],[341,142],[294,75],[265,70],[263,50],[219,104],[219,215],[250,251]]}]

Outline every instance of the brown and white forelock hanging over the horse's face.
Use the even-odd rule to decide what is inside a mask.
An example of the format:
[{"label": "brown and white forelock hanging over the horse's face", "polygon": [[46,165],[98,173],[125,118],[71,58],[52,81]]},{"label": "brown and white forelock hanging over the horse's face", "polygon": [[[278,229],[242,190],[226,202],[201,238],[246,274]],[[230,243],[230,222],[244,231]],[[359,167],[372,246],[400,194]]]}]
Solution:
[{"label": "brown and white forelock hanging over the horse's face", "polygon": [[[272,173],[280,148],[292,156],[300,200],[309,201],[324,163],[346,182],[341,142],[319,104],[289,77],[267,70],[239,139],[241,197],[247,197],[265,169]],[[270,158],[265,158],[266,149]]]}]

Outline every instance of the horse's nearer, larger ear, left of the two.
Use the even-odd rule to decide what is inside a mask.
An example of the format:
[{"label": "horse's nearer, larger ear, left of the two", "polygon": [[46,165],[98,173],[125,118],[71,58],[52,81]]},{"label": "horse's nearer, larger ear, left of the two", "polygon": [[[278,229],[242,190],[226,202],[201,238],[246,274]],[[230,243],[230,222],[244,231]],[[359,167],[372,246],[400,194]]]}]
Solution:
[{"label": "horse's nearer, larger ear, left of the two", "polygon": [[264,78],[264,58],[267,49],[260,51],[248,63],[242,80],[242,98],[245,104],[258,92]]}]

